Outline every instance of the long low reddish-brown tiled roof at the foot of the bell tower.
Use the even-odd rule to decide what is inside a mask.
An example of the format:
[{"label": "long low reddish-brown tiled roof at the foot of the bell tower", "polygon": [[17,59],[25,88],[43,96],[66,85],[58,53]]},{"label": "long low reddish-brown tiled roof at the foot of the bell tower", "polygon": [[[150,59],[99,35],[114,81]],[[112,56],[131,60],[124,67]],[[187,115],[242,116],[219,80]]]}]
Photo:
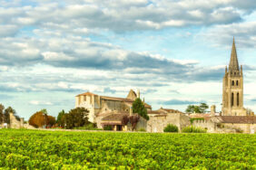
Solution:
[{"label": "long low reddish-brown tiled roof at the foot of the bell tower", "polygon": [[256,116],[221,116],[222,123],[254,124]]}]

